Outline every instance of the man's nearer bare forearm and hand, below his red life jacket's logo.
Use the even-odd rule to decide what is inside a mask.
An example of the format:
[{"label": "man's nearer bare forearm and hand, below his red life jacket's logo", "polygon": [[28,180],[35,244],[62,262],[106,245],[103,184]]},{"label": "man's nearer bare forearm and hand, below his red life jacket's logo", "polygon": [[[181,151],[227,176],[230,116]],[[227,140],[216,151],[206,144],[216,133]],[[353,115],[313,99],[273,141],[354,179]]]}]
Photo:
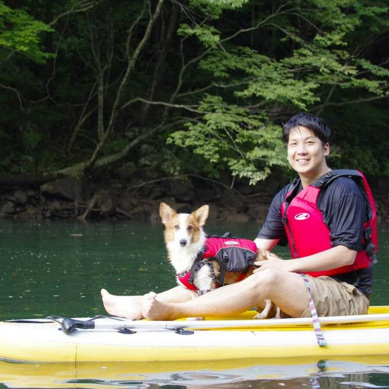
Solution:
[{"label": "man's nearer bare forearm and hand, below his red life jacket's logo", "polygon": [[295,273],[331,270],[352,265],[356,255],[357,252],[355,250],[341,245],[293,260],[282,260],[269,254],[268,261],[255,262],[255,265],[259,266],[259,268],[254,272],[266,269],[279,269]]}]

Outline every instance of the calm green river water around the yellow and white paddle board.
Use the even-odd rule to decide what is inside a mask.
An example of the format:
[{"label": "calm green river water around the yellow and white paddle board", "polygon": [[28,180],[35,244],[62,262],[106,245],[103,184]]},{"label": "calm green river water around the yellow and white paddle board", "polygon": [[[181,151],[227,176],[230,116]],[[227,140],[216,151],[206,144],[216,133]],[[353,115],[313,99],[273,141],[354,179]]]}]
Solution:
[{"label": "calm green river water around the yellow and white paddle board", "polygon": [[[258,226],[254,224],[207,226],[207,232],[212,234],[231,231],[235,236],[249,238],[256,236],[257,229]],[[389,304],[387,290],[389,225],[380,225],[379,248],[379,264],[375,268],[372,304],[387,305]],[[286,249],[278,248],[275,251],[287,255]],[[99,297],[102,287],[115,294],[144,294],[150,290],[158,292],[176,285],[174,272],[166,259],[162,226],[159,223],[152,225],[134,222],[1,221],[0,259],[2,264],[0,320],[48,315],[94,316],[105,313]],[[323,369],[317,362],[314,366],[320,373]],[[386,372],[387,366],[381,366],[378,362],[363,366],[363,369],[361,368],[363,372],[358,377],[348,373],[349,368],[343,369],[340,361],[338,365],[337,362],[331,362],[335,363],[334,369],[340,369],[342,374],[331,376],[330,373],[325,372],[316,374],[313,378],[311,374],[302,374],[299,377],[300,381],[253,379],[252,374],[247,372],[236,378],[235,373],[223,371],[220,375],[209,378],[209,375],[180,371],[176,374],[169,373],[163,382],[150,384],[146,380],[138,379],[120,383],[112,378],[106,380],[101,378],[100,369],[96,371],[99,380],[91,377],[87,382],[82,382],[82,385],[80,382],[75,382],[69,384],[69,387],[77,387],[78,384],[82,387],[102,388],[114,384],[118,387],[166,389],[199,385],[208,389],[279,386],[351,388],[376,385],[382,387],[389,384],[389,370]],[[282,372],[283,365],[279,364],[277,369]],[[2,380],[0,370],[0,387],[2,387],[1,382],[8,387]],[[28,387],[28,384],[26,386]]]}]

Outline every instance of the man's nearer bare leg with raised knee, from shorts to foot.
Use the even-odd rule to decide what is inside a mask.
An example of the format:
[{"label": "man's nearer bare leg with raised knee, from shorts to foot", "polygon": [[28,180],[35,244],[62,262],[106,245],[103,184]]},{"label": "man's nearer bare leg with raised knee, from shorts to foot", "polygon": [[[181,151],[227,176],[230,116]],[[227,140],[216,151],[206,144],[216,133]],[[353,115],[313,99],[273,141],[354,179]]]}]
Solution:
[{"label": "man's nearer bare leg with raised knee, from shorts to foot", "polygon": [[150,293],[143,300],[142,314],[149,320],[174,320],[192,316],[227,316],[245,312],[272,300],[292,317],[301,316],[308,307],[308,291],[299,274],[264,270],[240,283],[227,285],[196,299],[166,302]]}]

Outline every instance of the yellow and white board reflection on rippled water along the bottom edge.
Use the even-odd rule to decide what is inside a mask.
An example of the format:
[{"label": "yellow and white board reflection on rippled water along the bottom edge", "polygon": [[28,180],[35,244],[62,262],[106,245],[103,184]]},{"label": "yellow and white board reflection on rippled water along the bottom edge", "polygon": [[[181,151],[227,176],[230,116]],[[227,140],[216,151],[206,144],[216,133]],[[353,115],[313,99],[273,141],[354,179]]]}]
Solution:
[{"label": "yellow and white board reflection on rippled water along the bottom edge", "polygon": [[[374,358],[360,361],[320,360],[310,363],[271,363],[213,370],[171,372],[180,369],[166,363],[28,363],[0,362],[0,382],[9,388],[80,387],[80,388],[376,388],[389,387],[389,366],[371,364]],[[364,362],[364,363],[363,363]],[[208,362],[207,362],[208,363]],[[232,361],[226,361],[229,366]],[[242,363],[241,362],[237,362]],[[248,363],[246,361],[246,363]],[[204,362],[203,362],[204,364]],[[208,364],[212,365],[212,362]]]}]

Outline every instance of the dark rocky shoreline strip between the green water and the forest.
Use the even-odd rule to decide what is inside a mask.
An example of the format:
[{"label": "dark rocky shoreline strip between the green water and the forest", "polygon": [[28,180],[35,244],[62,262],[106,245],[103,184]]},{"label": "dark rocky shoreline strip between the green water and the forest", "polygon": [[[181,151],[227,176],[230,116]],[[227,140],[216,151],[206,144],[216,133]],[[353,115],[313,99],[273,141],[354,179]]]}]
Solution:
[{"label": "dark rocky shoreline strip between the green water and the forest", "polygon": [[[80,219],[159,221],[159,204],[178,212],[210,205],[209,219],[229,224],[263,223],[274,194],[285,180],[270,178],[255,186],[226,185],[195,179],[166,179],[135,185],[97,187],[85,179],[61,178],[35,187],[3,187],[0,218],[13,220]],[[386,182],[387,181],[387,182]],[[389,220],[389,181],[373,188],[378,220]],[[382,190],[380,190],[380,187]]]}]

